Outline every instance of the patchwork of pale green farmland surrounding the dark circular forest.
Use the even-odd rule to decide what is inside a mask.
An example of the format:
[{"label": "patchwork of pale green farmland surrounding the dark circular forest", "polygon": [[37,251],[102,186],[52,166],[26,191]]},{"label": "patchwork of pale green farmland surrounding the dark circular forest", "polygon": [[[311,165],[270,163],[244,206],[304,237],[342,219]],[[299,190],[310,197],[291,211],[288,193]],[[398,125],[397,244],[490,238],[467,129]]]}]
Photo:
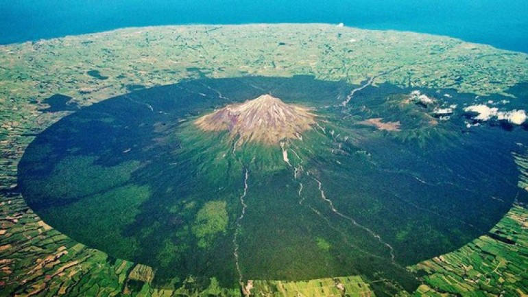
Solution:
[{"label": "patchwork of pale green farmland surrounding the dark circular forest", "polygon": [[[122,29],[3,46],[0,65],[2,296],[240,294],[222,289],[214,279],[197,283],[192,277],[179,289],[156,289],[149,285],[154,272],[145,265],[112,259],[76,243],[27,207],[16,188],[17,165],[25,147],[36,134],[71,113],[45,112],[45,99],[53,95],[71,97],[71,105],[88,106],[138,88],[241,75],[309,74],[355,84],[373,78],[374,86],[391,82],[506,96],[509,88],[528,82],[525,54],[453,38],[331,25]],[[523,167],[525,159],[518,158]],[[526,263],[526,218],[525,206],[514,206],[490,235],[446,255],[448,261],[438,257],[409,268],[424,272],[424,285],[415,294],[489,296],[498,294],[490,289],[495,280],[508,294],[527,294],[526,284],[518,280],[523,272],[518,268]],[[516,237],[509,239],[512,234]],[[482,270],[481,274],[454,276],[450,265],[468,267],[459,261]],[[488,272],[490,267],[493,269]],[[361,279],[353,279],[354,285],[361,283]],[[314,286],[326,286],[322,283],[328,281]],[[279,291],[276,294],[280,295]]]}]

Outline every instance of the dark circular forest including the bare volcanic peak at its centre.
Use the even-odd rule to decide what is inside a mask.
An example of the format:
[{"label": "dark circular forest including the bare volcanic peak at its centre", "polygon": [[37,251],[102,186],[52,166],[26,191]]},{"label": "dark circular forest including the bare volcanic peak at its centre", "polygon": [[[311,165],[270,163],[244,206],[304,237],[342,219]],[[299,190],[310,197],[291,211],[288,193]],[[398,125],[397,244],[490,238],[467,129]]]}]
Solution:
[{"label": "dark circular forest including the bare volcanic peak at its centre", "polygon": [[27,148],[19,185],[53,228],[152,266],[160,286],[360,274],[412,290],[405,266],[525,199],[512,152],[526,127],[468,128],[478,112],[455,106],[473,98],[311,76],[188,80],[64,117]]}]

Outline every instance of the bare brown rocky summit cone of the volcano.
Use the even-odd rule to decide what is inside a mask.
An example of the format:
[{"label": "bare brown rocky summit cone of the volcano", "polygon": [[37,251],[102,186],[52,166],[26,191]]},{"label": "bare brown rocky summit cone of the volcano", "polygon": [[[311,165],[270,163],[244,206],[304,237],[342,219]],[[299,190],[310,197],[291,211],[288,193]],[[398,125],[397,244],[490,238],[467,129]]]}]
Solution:
[{"label": "bare brown rocky summit cone of the volcano", "polygon": [[299,138],[315,124],[307,108],[285,104],[272,95],[261,95],[241,104],[230,104],[204,115],[195,124],[206,131],[228,130],[239,144],[246,141],[276,144],[282,139]]}]

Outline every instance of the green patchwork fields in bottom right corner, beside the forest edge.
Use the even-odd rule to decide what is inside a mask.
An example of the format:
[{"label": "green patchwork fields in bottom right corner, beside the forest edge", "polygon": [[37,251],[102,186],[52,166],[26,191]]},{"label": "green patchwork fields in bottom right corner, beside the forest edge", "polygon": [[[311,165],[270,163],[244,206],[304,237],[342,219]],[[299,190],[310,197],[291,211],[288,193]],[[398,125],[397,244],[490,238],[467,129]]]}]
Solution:
[{"label": "green patchwork fields in bottom right corner, beside the forest edge", "polygon": [[411,266],[425,274],[416,296],[526,296],[528,211],[514,206],[488,235]]}]

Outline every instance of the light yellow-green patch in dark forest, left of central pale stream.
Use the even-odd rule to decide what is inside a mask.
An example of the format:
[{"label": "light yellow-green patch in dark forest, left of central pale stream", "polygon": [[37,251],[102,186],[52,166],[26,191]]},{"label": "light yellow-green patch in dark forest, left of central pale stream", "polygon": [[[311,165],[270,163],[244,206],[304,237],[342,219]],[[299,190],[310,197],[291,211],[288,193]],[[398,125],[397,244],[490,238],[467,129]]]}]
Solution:
[{"label": "light yellow-green patch in dark forest, left of central pale stream", "polygon": [[209,201],[196,214],[193,234],[200,248],[208,248],[218,233],[226,233],[228,212],[225,201]]}]

